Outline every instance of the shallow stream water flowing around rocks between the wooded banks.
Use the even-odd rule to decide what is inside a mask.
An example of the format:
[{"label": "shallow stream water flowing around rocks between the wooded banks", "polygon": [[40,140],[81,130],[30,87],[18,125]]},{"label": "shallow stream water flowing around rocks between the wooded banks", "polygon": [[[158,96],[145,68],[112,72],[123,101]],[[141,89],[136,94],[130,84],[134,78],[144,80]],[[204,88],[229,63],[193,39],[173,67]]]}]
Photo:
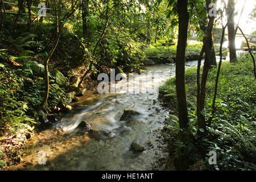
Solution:
[{"label": "shallow stream water flowing around rocks between the wooded banks", "polygon": [[[197,61],[186,63],[193,67]],[[61,115],[59,122],[51,129],[36,134],[27,145],[27,155],[20,169],[30,170],[150,170],[159,156],[158,132],[163,127],[168,112],[158,101],[158,86],[167,78],[175,75],[174,64],[154,65],[146,74],[158,74],[159,77],[144,79],[139,75],[147,93],[99,94],[94,92],[81,97],[71,112]],[[125,84],[119,81],[118,85]],[[135,89],[141,85],[138,80],[129,82]],[[156,86],[155,86],[156,85]],[[143,86],[143,87],[144,87]],[[155,87],[154,87],[155,86]],[[131,122],[119,121],[125,109],[141,113]],[[84,120],[93,129],[107,130],[115,134],[114,138],[94,139],[88,133],[77,130]],[[61,128],[65,134],[55,129]],[[131,143],[144,146],[143,152],[130,150]],[[40,152],[40,153],[38,153]],[[46,156],[46,165],[38,160]]]}]

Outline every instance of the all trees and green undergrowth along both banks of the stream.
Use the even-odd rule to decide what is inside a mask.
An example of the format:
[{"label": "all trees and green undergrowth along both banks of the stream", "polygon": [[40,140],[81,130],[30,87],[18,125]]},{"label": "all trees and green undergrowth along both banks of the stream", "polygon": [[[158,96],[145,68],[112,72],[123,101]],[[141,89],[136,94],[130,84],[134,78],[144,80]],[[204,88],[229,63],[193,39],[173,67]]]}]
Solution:
[{"label": "all trees and green undergrowth along both banks of the stream", "polygon": [[[171,114],[163,129],[170,162],[256,169],[255,44],[238,23],[249,53],[237,57],[234,0],[222,1],[216,16],[209,16],[216,0],[43,2],[47,16],[39,16],[38,0],[0,2],[0,169],[19,163],[26,140],[75,96],[96,91],[100,73],[158,63],[176,63],[176,77],[159,92]],[[222,63],[228,52],[230,63]],[[198,60],[198,68],[185,71],[185,60]],[[217,165],[209,166],[209,151],[217,152]]]}]

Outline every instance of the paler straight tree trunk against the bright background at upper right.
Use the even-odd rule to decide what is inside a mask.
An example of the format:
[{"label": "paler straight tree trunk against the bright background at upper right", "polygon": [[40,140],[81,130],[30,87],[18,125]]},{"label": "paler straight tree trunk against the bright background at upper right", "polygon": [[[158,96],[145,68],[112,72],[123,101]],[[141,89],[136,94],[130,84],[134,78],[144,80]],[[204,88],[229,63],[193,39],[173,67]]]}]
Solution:
[{"label": "paler straight tree trunk against the bright background at upper right", "polygon": [[[229,38],[229,57],[230,62],[237,61],[237,50],[236,50],[236,34],[234,29],[234,9],[235,2],[234,0],[228,1],[228,38]],[[233,12],[233,13],[230,13]]]}]

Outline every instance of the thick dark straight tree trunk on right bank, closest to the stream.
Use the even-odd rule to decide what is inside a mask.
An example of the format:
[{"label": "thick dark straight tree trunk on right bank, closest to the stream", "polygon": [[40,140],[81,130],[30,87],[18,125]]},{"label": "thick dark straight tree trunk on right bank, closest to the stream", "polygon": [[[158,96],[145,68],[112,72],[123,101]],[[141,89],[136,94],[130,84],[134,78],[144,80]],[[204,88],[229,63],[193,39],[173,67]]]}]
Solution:
[{"label": "thick dark straight tree trunk on right bank, closest to the stream", "polygon": [[188,38],[188,1],[177,1],[179,14],[179,37],[176,52],[176,94],[181,129],[188,127],[188,108],[185,92],[185,49]]}]

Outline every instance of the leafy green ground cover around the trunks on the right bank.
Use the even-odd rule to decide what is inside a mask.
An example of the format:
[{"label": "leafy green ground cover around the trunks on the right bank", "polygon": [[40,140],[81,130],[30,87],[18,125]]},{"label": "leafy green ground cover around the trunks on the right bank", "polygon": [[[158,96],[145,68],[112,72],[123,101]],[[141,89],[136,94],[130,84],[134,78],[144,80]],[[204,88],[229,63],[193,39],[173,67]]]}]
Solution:
[{"label": "leafy green ground cover around the trunks on the right bank", "polygon": [[[217,68],[211,69],[207,82],[207,99],[205,114],[211,117],[214,84]],[[255,170],[255,80],[253,64],[248,54],[242,54],[237,63],[225,62],[221,68],[221,76],[217,95],[217,110],[208,123],[207,137],[201,139],[197,134],[196,119],[196,68],[185,72],[187,100],[189,111],[189,131],[191,138],[183,142],[176,138],[179,132],[178,118],[170,115],[164,128],[164,135],[170,143],[172,158],[187,158],[190,169],[213,169],[209,166],[209,151],[217,151],[217,170],[251,169]],[[175,77],[168,80],[160,88],[160,98],[164,104],[176,114]],[[171,134],[171,136],[170,136]],[[177,165],[179,160],[177,160]],[[187,166],[187,167],[188,167]],[[184,168],[184,166],[179,166]]]}]

